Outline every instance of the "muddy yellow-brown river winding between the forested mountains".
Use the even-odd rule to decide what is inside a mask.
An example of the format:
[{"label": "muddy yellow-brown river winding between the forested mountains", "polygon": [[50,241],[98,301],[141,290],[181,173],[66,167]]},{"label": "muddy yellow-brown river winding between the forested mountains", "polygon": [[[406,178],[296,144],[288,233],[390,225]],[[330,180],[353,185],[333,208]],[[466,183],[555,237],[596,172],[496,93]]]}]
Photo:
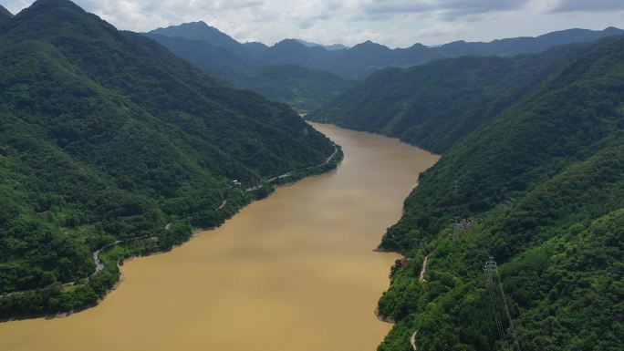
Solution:
[{"label": "muddy yellow-brown river winding between the forested mountains", "polygon": [[366,351],[389,324],[374,309],[393,253],[375,253],[436,156],[316,125],[338,170],[276,191],[170,253],[127,262],[124,280],[75,315],[0,324],[0,351]]}]

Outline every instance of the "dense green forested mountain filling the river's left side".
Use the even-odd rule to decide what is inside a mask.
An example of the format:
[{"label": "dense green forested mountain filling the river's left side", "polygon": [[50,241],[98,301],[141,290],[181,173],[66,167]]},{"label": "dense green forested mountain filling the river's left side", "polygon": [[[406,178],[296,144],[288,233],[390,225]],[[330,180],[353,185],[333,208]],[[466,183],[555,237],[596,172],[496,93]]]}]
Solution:
[{"label": "dense green forested mountain filling the river's left side", "polygon": [[[340,155],[324,163],[335,146],[286,105],[69,1],[7,16],[0,46],[0,319],[93,305],[124,257],[171,249],[268,179]],[[92,253],[117,241],[94,274]]]}]

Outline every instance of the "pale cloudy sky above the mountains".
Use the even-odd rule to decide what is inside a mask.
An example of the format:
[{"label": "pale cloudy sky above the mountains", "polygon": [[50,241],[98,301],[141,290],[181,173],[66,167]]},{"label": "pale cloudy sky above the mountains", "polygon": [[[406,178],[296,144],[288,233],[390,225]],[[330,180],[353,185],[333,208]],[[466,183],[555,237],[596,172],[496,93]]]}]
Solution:
[{"label": "pale cloudy sky above the mountains", "polygon": [[[33,0],[2,0],[13,13]],[[204,21],[239,41],[390,47],[624,27],[624,0],[75,0],[120,29]]]}]

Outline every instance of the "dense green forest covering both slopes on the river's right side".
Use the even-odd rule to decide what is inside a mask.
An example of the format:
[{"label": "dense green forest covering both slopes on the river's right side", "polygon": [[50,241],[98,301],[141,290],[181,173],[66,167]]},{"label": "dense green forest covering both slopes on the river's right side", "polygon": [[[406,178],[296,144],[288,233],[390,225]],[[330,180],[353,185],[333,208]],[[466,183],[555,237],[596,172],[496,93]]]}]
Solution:
[{"label": "dense green forest covering both slopes on the river's right side", "polygon": [[419,351],[504,349],[512,330],[503,318],[497,333],[490,256],[522,350],[621,350],[623,38],[387,70],[351,93],[312,117],[413,129],[400,136],[442,152],[380,244],[408,261],[380,298],[380,316],[396,325],[379,350],[412,350],[412,336]]}]

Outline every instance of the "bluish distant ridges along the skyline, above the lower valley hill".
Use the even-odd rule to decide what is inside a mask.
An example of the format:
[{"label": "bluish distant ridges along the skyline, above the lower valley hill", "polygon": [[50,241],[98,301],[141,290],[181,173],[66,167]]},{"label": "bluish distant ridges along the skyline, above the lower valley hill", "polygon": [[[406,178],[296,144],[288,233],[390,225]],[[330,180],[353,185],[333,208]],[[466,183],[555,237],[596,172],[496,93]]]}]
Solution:
[{"label": "bluish distant ridges along the skyline, above the lower valley hill", "polygon": [[[260,63],[301,65],[356,79],[366,77],[383,67],[409,67],[446,57],[509,57],[531,54],[552,46],[589,42],[622,34],[624,30],[615,27],[608,27],[601,31],[567,29],[543,36],[515,37],[489,43],[456,41],[436,47],[414,44],[410,47],[395,49],[371,41],[365,41],[353,47],[321,46],[299,39],[284,39],[274,46],[265,46],[261,43],[241,44],[231,36],[203,22],[159,28],[151,31],[149,36],[201,41],[203,45],[217,46],[239,56],[235,60],[236,63],[244,61],[249,65]],[[158,40],[158,37],[156,38]],[[213,55],[223,54],[215,52]],[[221,57],[207,57],[206,59],[215,61],[219,58]]]}]

